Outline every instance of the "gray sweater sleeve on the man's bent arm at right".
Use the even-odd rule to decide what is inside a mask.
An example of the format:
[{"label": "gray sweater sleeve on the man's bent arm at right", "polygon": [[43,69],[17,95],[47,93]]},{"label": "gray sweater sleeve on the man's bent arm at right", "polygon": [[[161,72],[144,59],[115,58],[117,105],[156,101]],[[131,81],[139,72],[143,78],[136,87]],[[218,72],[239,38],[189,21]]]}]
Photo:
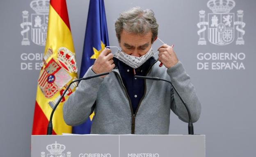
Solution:
[{"label": "gray sweater sleeve on the man's bent arm at right", "polygon": [[[201,114],[201,104],[195,88],[190,82],[190,76],[187,75],[183,68],[183,64],[178,61],[176,65],[167,69],[167,73],[170,76],[172,84],[176,87],[190,109],[192,122],[197,122]],[[178,115],[179,119],[188,122],[187,110],[175,91],[174,95],[171,95],[171,110]]]}]

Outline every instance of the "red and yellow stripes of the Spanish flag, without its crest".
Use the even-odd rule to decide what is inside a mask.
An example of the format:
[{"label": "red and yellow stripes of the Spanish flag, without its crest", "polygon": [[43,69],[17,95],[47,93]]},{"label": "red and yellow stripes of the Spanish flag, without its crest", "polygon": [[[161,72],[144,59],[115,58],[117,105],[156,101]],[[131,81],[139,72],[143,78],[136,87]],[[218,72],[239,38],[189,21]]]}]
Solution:
[{"label": "red and yellow stripes of the Spanish flag, without its crest", "polygon": [[[60,57],[58,52],[60,51],[59,49],[63,47],[66,48],[67,51],[69,50],[69,53],[64,52],[64,55]],[[49,53],[49,49],[51,50],[50,51],[51,53]],[[73,40],[72,40],[71,29],[69,24],[69,16],[68,16],[67,7],[66,7],[66,0],[50,0],[49,16],[48,16],[48,31],[47,31],[47,39],[46,39],[46,47],[45,47],[44,55],[45,55],[44,58],[46,60],[44,60],[44,65],[41,69],[40,76],[43,77],[42,76],[43,71],[44,73],[46,73],[47,71],[48,84],[51,83],[51,82],[49,83],[49,76],[51,75],[50,70],[54,69],[56,66],[56,65],[53,65],[53,67],[49,67],[50,61],[52,62],[53,60],[54,62],[56,62],[57,66],[59,66],[62,69],[62,73],[59,73],[58,75],[62,75],[63,71],[66,71],[66,73],[68,73],[70,79],[68,80],[68,82],[66,82],[66,85],[69,84],[73,79],[77,78],[76,71],[74,70],[76,68],[76,65],[75,64],[72,64],[72,66],[70,65],[71,67],[73,67],[73,71],[71,71],[70,69],[67,68],[67,66],[69,65],[65,66],[65,64],[63,64],[63,62],[65,63],[65,59],[68,62],[71,60],[70,59],[71,57],[73,57],[73,60],[71,62],[73,63],[75,61],[75,50],[73,47]],[[40,76],[39,78],[41,78]],[[53,75],[52,77],[54,77],[53,80],[59,79],[59,82],[62,82],[61,78],[57,78],[56,74]],[[67,76],[65,77],[67,78]],[[57,90],[55,90],[55,92],[56,91],[57,92],[49,96],[49,95],[46,95],[47,91],[44,88],[45,86],[44,85],[39,86],[39,84],[37,85],[37,97],[36,97],[36,103],[35,103],[32,135],[46,134],[47,125],[50,119],[50,113],[53,109],[52,106],[50,106],[50,102],[54,102],[54,100],[58,99],[58,97],[62,94],[62,90],[65,89],[65,86],[59,85]],[[51,89],[48,89],[48,90],[51,91]],[[75,88],[71,89],[70,93],[72,93],[72,91],[74,90]],[[67,98],[68,98],[68,95],[65,96],[65,100]],[[53,134],[59,135],[62,133],[71,133],[72,131],[72,127],[66,125],[64,122],[63,112],[62,112],[63,104],[64,104],[64,100],[59,104],[59,106],[57,107],[53,115]]]}]

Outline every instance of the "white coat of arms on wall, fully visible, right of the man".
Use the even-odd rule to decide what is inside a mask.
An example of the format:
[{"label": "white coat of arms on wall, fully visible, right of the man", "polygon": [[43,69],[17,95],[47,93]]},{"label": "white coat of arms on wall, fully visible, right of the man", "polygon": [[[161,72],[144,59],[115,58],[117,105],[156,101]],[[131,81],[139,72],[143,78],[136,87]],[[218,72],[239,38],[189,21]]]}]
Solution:
[{"label": "white coat of arms on wall, fully visible, right of the man", "polygon": [[243,11],[237,11],[237,21],[235,21],[235,13],[230,11],[235,7],[234,0],[209,0],[207,7],[213,11],[208,13],[208,22],[205,21],[205,11],[199,11],[199,23],[197,31],[199,35],[199,45],[206,45],[205,31],[208,26],[208,41],[215,45],[227,45],[233,42],[235,31],[237,31],[237,39],[235,44],[245,44],[243,35],[245,35],[245,22],[243,22]]}]

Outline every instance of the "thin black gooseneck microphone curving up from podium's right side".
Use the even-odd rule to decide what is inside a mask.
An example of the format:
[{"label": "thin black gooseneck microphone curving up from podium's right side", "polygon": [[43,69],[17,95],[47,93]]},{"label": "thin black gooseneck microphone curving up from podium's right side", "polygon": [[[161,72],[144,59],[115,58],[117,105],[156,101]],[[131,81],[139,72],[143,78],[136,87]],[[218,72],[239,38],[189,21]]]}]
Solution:
[{"label": "thin black gooseneck microphone curving up from podium's right side", "polygon": [[187,109],[188,118],[189,118],[189,121],[188,121],[188,134],[189,134],[189,135],[194,135],[194,127],[193,127],[193,123],[192,123],[192,118],[191,118],[190,110],[189,110],[189,108],[187,107],[187,104],[186,104],[185,100],[183,100],[183,98],[182,98],[181,95],[178,93],[178,91],[177,91],[177,89],[175,88],[175,86],[174,86],[170,81],[161,79],[161,78],[159,78],[159,77],[148,77],[148,76],[138,76],[138,75],[135,75],[134,77],[135,77],[135,78],[140,78],[140,79],[148,79],[148,80],[156,80],[156,81],[165,81],[165,82],[168,82],[169,84],[171,84],[172,88],[174,88],[174,91],[176,91],[176,93],[178,94],[178,97],[180,97],[182,103],[184,104],[185,108]]}]

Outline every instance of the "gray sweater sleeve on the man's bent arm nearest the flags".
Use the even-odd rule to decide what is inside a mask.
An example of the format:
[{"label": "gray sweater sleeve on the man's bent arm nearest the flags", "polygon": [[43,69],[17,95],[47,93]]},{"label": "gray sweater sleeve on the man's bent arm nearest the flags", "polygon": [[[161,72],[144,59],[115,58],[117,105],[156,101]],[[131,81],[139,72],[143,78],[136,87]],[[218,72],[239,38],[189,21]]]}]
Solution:
[{"label": "gray sweater sleeve on the man's bent arm nearest the flags", "polygon": [[[95,75],[91,67],[84,77]],[[82,80],[76,87],[63,106],[63,117],[67,125],[76,126],[85,122],[91,111],[94,109],[98,90],[103,78],[95,77],[89,80]]]}]

